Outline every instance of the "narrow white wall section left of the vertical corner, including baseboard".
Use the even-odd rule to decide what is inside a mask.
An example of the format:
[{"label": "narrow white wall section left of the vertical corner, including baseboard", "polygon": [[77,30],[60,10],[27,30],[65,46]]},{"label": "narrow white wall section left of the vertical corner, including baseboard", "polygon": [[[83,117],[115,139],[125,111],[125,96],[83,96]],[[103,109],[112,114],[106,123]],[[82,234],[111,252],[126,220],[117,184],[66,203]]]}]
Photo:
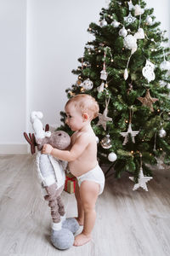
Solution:
[{"label": "narrow white wall section left of the vertical corner, including baseboard", "polygon": [[26,130],[26,0],[0,1],[0,32],[0,153],[20,152]]}]

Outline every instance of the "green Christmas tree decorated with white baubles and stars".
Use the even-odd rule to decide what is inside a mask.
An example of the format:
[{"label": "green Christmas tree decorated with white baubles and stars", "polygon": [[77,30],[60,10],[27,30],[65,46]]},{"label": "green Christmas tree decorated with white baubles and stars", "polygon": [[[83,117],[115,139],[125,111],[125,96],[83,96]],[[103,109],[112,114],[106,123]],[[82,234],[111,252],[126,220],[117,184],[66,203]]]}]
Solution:
[{"label": "green Christmas tree decorated with white baubles and stars", "polygon": [[72,71],[76,84],[66,90],[69,98],[85,93],[99,102],[92,123],[99,161],[114,166],[116,177],[129,172],[135,183],[152,176],[150,165],[162,154],[170,165],[169,48],[153,12],[144,1],[112,0],[99,24],[89,25],[94,40]]}]

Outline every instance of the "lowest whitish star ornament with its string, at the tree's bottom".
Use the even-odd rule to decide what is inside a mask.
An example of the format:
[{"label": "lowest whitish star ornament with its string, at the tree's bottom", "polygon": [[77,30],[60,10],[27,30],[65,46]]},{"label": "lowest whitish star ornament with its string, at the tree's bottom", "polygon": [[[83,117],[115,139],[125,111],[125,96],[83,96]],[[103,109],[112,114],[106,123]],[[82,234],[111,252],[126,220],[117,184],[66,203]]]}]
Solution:
[{"label": "lowest whitish star ornament with its string, at the tree's bottom", "polygon": [[[129,177],[130,180],[134,181],[134,177]],[[139,189],[140,187],[145,191],[148,191],[146,183],[150,181],[152,177],[144,176],[143,168],[142,168],[142,154],[140,154],[140,169],[139,169],[139,178],[138,183],[133,186],[133,190]]]}]

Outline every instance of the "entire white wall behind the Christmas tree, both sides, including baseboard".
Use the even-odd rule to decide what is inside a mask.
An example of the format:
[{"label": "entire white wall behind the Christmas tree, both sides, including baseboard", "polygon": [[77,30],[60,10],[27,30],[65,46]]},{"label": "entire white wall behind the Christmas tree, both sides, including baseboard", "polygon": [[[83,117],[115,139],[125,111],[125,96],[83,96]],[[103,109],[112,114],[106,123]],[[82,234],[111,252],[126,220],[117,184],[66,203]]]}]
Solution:
[{"label": "entire white wall behind the Christmas tree, both sides, including baseboard", "polygon": [[[29,113],[41,110],[43,123],[59,124],[65,89],[75,83],[77,58],[99,20],[106,0],[0,1],[0,154],[25,153],[23,131],[31,131]],[[156,20],[170,35],[168,0],[147,0]]]}]

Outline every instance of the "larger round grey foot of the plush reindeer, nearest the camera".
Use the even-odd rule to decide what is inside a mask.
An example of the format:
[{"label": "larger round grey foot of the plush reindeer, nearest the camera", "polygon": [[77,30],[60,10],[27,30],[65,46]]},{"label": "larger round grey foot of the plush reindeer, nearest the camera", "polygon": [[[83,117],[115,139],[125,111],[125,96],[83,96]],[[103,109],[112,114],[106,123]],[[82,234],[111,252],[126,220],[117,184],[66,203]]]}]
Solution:
[{"label": "larger round grey foot of the plush reindeer, nearest the camera", "polygon": [[74,236],[70,230],[52,230],[51,242],[59,250],[70,248],[74,243]]}]

